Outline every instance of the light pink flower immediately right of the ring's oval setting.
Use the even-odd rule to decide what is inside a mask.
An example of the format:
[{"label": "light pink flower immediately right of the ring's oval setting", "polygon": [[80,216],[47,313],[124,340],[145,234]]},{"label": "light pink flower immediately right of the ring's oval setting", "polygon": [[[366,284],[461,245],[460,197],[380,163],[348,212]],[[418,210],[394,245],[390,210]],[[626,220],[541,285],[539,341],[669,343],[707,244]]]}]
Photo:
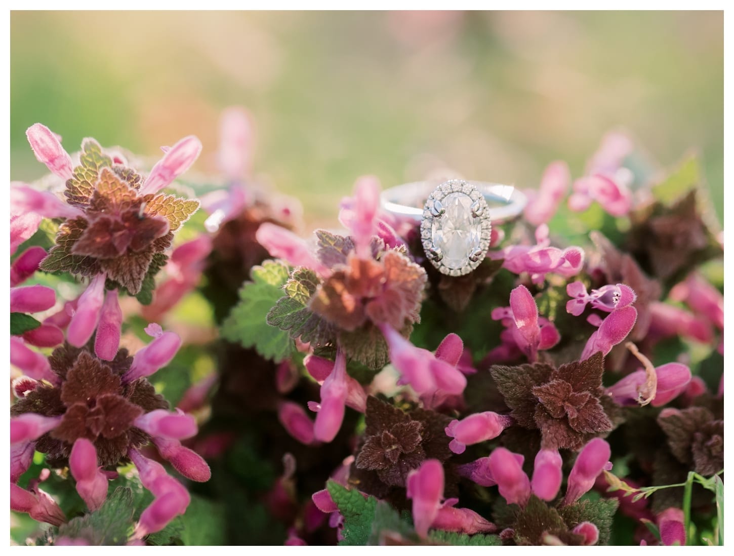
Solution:
[{"label": "light pink flower immediately right of the ring's oval setting", "polygon": [[487,256],[493,260],[504,259],[502,267],[515,274],[528,272],[534,284],[542,284],[549,272],[564,278],[581,272],[584,267],[584,250],[578,247],[564,250],[550,247],[546,224],[538,226],[535,239],[537,245],[509,245],[498,251],[489,251]]}]

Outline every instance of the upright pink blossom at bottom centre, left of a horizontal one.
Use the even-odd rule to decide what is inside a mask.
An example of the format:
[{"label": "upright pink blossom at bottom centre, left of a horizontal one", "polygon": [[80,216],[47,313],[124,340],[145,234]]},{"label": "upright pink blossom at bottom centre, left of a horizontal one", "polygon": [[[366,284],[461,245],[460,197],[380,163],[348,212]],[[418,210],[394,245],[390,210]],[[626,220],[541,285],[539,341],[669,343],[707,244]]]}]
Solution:
[{"label": "upright pink blossom at bottom centre, left of a horizontal one", "polygon": [[406,496],[413,500],[413,523],[421,538],[426,538],[438,515],[443,498],[443,480],[443,466],[438,460],[426,460],[418,469],[408,473]]}]

